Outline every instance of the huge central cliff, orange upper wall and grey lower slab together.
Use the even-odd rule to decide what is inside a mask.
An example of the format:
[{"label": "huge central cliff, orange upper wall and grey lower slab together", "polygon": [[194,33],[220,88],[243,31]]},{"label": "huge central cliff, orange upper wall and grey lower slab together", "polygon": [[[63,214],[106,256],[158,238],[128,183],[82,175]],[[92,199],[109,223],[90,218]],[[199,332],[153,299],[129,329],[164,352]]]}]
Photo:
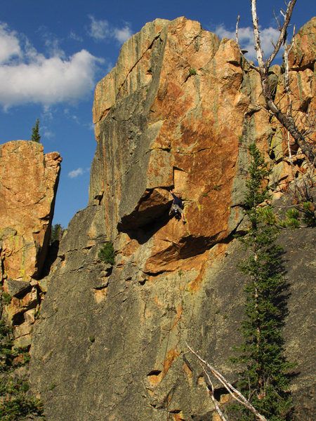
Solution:
[{"label": "huge central cliff, orange upper wall and grey lower slab together", "polygon": [[[235,41],[185,18],[147,23],[98,83],[88,207],[70,222],[43,281],[34,329],[31,381],[48,421],[213,420],[185,340],[234,380],[227,360],[240,339],[245,280],[232,234],[242,229],[246,147],[282,148],[260,94]],[[169,215],[171,188],[183,194],[185,225]],[[291,232],[280,238],[292,288],[291,359],[312,340],[298,303],[303,291],[312,302],[306,248],[315,232],[297,233],[295,243]],[[109,239],[113,268],[98,258]],[[295,383],[305,397],[311,359],[305,352]],[[300,409],[301,420],[311,410]]]}]

